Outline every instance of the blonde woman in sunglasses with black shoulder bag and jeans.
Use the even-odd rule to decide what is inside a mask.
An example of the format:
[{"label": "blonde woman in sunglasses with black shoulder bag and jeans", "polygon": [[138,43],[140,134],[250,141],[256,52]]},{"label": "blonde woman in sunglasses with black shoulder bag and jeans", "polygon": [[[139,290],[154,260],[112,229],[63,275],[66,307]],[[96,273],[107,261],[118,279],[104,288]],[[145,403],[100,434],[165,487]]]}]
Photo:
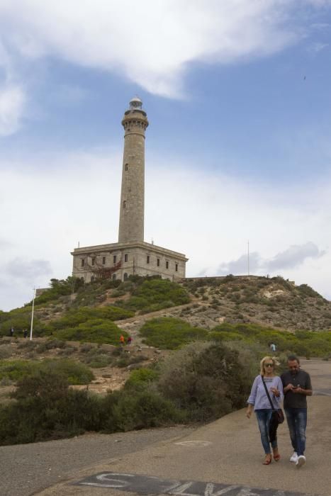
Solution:
[{"label": "blonde woman in sunglasses with black shoulder bag and jeans", "polygon": [[263,462],[264,465],[270,465],[271,463],[270,445],[274,461],[279,461],[281,458],[277,446],[277,436],[275,435],[272,441],[269,436],[269,424],[273,409],[271,408],[266,391],[267,388],[274,410],[278,410],[280,407],[279,404],[284,398],[284,393],[281,378],[275,375],[276,365],[276,359],[272,356],[264,356],[264,359],[260,363],[260,374],[254,379],[252,390],[247,400],[247,417],[249,418],[252,415],[253,407],[257,416],[262,446],[266,455]]}]

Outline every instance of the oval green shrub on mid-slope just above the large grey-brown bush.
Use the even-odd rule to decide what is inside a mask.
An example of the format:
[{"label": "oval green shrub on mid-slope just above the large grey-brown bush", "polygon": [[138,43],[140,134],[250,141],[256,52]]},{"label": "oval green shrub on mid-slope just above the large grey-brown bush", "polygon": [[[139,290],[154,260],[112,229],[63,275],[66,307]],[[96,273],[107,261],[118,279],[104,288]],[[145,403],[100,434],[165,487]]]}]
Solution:
[{"label": "oval green shrub on mid-slope just above the large grey-brown bush", "polygon": [[143,342],[161,349],[176,349],[197,339],[206,339],[206,329],[192,327],[184,320],[173,317],[159,317],[147,320],[140,327]]}]

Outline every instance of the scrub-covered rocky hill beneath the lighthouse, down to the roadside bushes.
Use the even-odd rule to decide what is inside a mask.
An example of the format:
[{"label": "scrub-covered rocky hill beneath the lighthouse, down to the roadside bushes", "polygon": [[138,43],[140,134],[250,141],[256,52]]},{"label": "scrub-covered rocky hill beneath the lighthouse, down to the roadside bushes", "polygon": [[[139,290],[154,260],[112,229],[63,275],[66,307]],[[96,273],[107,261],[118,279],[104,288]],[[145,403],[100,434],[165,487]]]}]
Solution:
[{"label": "scrub-covered rocky hill beneath the lighthouse, down to the roadside bushes", "polygon": [[330,359],[330,306],[281,277],[52,279],[32,341],[31,302],[0,312],[0,444],[218,418],[245,405],[270,342],[281,366]]}]

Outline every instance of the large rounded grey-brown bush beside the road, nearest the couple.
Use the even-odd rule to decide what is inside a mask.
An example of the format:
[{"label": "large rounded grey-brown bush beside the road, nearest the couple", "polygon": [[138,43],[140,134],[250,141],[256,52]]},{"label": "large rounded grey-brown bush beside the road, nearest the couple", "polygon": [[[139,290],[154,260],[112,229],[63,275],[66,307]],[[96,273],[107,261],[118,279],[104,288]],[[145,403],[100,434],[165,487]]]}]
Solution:
[{"label": "large rounded grey-brown bush beside the road, nearest the couple", "polygon": [[247,382],[237,350],[196,343],[165,361],[158,386],[189,419],[206,421],[243,407],[251,379]]}]

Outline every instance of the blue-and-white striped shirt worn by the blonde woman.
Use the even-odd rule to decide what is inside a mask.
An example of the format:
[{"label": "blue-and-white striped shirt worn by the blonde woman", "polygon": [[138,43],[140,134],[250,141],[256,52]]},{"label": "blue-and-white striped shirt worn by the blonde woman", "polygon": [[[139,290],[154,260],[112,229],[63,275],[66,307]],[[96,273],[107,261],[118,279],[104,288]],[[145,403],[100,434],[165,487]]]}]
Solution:
[{"label": "blue-and-white striped shirt worn by the blonde woman", "polygon": [[[281,378],[278,376],[264,377],[264,382],[267,385],[270,399],[272,401],[272,404],[274,405],[274,408],[275,409],[279,408],[280,407],[279,403],[284,398],[283,384],[281,383]],[[274,393],[271,393],[270,388],[277,388],[279,390],[280,395],[278,398],[274,396]],[[271,408],[266,390],[264,389],[261,376],[257,376],[254,379],[252,390],[250,392],[247,403],[249,403],[250,405],[254,405],[254,410],[263,410],[264,408]]]}]

